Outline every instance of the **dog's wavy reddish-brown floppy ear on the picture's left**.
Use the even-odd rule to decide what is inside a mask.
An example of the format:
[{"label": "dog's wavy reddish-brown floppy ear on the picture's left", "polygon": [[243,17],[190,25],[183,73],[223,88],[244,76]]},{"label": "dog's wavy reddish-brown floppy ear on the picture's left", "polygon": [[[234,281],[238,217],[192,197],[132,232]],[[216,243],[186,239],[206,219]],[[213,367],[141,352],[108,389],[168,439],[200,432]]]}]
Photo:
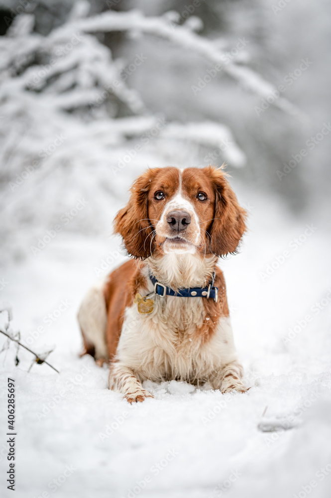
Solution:
[{"label": "dog's wavy reddish-brown floppy ear on the picture's left", "polygon": [[115,216],[114,233],[122,236],[125,249],[135,259],[146,259],[155,247],[148,219],[148,192],[158,170],[149,169],[133,182],[129,202]]}]

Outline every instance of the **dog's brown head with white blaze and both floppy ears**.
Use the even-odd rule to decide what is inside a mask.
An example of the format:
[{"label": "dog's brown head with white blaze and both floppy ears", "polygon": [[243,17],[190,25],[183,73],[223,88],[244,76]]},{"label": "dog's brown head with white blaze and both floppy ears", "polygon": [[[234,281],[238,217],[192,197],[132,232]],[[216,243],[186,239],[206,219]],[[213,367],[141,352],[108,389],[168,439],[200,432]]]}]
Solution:
[{"label": "dog's brown head with white blaze and both floppy ears", "polygon": [[246,212],[221,169],[153,168],[131,187],[115,217],[115,233],[139,259],[153,253],[223,256],[235,252],[246,229]]}]

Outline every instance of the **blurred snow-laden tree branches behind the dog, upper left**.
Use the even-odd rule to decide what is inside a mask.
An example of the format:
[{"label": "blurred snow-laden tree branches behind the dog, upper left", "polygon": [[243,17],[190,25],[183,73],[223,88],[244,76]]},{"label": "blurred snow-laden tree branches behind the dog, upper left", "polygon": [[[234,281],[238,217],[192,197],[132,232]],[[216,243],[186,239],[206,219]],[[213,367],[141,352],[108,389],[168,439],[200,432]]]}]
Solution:
[{"label": "blurred snow-laden tree branches behind the dog, upper left", "polygon": [[[89,199],[91,216],[75,220],[71,228],[110,231],[109,215],[101,206],[126,186],[124,171],[132,168],[139,171],[147,164],[174,162],[245,165],[245,154],[228,124],[168,121],[162,106],[158,111],[149,109],[128,85],[136,72],[148,82],[146,56],[141,52],[132,60],[114,56],[105,33],[152,37],[173,47],[179,63],[187,54],[208,63],[211,69],[192,82],[192,94],[219,73],[261,99],[276,91],[244,63],[248,50],[244,40],[239,38],[235,50],[226,51],[224,40],[198,33],[203,26],[197,16],[184,20],[174,11],[146,16],[138,10],[89,15],[89,9],[88,2],[76,2],[65,22],[45,35],[34,30],[33,13],[18,14],[0,38],[4,241],[15,242],[15,224],[27,241],[35,237],[40,226],[55,223],[59,213],[82,195]],[[167,85],[173,85],[170,77]],[[273,105],[300,117],[282,96]]]}]

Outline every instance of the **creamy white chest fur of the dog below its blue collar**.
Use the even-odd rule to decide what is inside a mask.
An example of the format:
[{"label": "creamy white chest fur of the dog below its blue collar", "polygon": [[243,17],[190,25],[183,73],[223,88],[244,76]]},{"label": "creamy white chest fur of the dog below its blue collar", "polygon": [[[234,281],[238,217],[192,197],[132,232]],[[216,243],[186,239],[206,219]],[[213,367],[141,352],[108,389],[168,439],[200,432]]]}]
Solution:
[{"label": "creamy white chest fur of the dog below its blue collar", "polygon": [[235,360],[229,318],[221,318],[211,339],[199,334],[206,323],[204,298],[154,296],[150,315],[137,305],[125,310],[117,347],[120,364],[145,379],[181,379],[203,382]]}]

